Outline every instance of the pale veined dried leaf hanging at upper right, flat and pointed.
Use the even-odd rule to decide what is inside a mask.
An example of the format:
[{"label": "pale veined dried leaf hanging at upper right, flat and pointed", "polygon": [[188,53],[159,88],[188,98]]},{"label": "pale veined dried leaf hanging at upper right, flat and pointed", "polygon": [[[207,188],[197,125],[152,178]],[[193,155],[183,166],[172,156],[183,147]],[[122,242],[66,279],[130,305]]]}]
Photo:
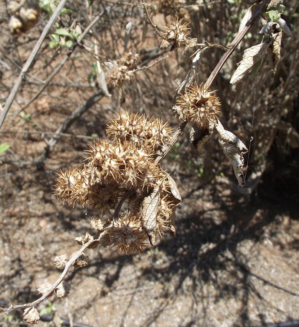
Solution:
[{"label": "pale veined dried leaf hanging at upper right, flat and pointed", "polygon": [[271,38],[267,38],[265,42],[252,46],[244,51],[243,59],[238,68],[234,72],[230,83],[235,84],[253,69],[256,62],[264,58],[268,46],[271,44]]}]

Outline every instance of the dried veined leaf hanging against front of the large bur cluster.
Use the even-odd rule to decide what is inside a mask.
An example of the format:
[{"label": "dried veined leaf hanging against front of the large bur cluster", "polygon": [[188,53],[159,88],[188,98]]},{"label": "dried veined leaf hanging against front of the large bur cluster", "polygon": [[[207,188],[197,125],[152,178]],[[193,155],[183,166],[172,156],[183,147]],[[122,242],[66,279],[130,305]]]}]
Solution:
[{"label": "dried veined leaf hanging against front of the large bur cluster", "polygon": [[156,242],[156,226],[159,202],[159,187],[157,186],[154,191],[143,199],[142,202],[142,226],[148,235],[148,239],[152,246]]}]

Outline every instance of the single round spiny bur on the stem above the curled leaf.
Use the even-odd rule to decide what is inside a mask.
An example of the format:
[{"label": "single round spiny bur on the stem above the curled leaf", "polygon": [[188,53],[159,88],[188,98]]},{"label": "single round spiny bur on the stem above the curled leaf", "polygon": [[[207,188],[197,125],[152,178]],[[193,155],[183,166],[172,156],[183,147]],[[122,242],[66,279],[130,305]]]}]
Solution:
[{"label": "single round spiny bur on the stem above the curled leaf", "polygon": [[203,83],[192,86],[177,98],[178,118],[186,119],[190,124],[196,124],[206,129],[209,123],[216,122],[219,112],[219,98],[212,95],[215,91],[203,89]]}]

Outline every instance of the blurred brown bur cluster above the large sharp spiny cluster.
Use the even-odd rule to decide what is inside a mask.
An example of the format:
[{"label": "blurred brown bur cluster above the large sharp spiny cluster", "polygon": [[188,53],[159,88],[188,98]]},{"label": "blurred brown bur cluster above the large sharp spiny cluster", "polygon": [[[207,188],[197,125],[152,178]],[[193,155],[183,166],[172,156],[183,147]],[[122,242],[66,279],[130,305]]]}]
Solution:
[{"label": "blurred brown bur cluster above the large sharp spiny cluster", "polygon": [[111,70],[106,76],[106,82],[111,87],[122,86],[124,82],[130,82],[134,73],[132,72],[140,63],[140,56],[135,52],[126,52],[120,59],[114,62]]}]

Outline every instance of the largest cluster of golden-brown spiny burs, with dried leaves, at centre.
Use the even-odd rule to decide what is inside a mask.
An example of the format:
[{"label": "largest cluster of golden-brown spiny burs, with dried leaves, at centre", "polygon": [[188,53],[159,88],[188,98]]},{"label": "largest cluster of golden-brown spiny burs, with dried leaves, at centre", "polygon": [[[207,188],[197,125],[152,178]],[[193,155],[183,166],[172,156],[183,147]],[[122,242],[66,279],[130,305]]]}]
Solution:
[{"label": "largest cluster of golden-brown spiny burs, with dried leaves, at centre", "polygon": [[[167,126],[160,119],[119,113],[107,126],[107,141],[89,146],[90,156],[82,168],[60,171],[57,197],[68,205],[92,206],[98,214],[92,216],[91,226],[104,232],[100,240],[104,247],[142,253],[148,240],[155,244],[156,235],[166,230],[175,233],[176,187],[155,163],[170,137]],[[119,213],[123,201],[125,210]]]}]

